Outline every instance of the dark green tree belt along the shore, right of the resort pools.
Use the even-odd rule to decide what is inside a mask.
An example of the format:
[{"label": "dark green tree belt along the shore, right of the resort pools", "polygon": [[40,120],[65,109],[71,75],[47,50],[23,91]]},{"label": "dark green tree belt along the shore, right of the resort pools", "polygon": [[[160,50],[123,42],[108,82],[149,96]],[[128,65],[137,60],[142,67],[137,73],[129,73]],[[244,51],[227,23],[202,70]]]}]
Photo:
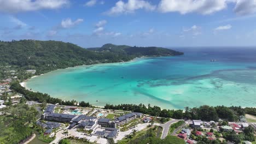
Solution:
[{"label": "dark green tree belt along the shore, right of the resort pools", "polygon": [[141,112],[147,113],[151,116],[159,116],[166,118],[176,118],[176,119],[201,119],[203,121],[218,121],[219,118],[222,118],[226,121],[237,121],[238,117],[241,115],[245,115],[247,109],[254,108],[245,108],[243,109],[241,106],[207,106],[203,105],[200,107],[189,108],[186,107],[185,112],[183,110],[166,110],[159,106],[150,106],[148,107],[144,104],[120,104],[120,105],[109,105],[106,104],[104,109],[112,109],[112,110],[125,110],[125,111],[133,111],[133,112]]}]

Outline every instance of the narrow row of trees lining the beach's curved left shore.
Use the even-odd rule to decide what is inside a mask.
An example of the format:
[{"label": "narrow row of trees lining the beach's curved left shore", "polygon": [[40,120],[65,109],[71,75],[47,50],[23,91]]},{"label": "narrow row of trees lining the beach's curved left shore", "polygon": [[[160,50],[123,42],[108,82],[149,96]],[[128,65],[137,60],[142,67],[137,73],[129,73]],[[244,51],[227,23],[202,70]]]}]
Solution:
[{"label": "narrow row of trees lining the beach's curved left shore", "polygon": [[[63,101],[58,98],[52,98],[50,97],[49,94],[46,94],[46,93],[43,94],[39,92],[29,91],[25,87],[22,87],[19,82],[12,82],[10,88],[13,89],[15,92],[23,94],[27,100],[33,100],[39,103],[43,103],[43,102],[50,103],[50,104],[59,103],[61,105],[70,105],[70,106],[73,106],[75,105],[75,103],[77,103],[77,101],[75,100]],[[91,107],[89,103],[85,103],[84,101],[80,101],[79,105],[82,107]]]}]

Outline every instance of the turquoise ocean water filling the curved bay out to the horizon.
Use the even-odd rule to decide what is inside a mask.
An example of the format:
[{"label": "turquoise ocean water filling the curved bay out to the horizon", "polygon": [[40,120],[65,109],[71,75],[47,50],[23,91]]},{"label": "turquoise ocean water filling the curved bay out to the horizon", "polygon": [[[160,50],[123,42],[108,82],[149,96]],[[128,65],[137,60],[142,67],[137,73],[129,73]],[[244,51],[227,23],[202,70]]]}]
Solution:
[{"label": "turquoise ocean water filling the curved bay out to the horizon", "polygon": [[[92,105],[256,106],[256,49],[180,48],[184,56],[59,69],[26,82],[32,91]],[[216,62],[210,62],[216,59]],[[97,101],[98,100],[98,101]]]}]

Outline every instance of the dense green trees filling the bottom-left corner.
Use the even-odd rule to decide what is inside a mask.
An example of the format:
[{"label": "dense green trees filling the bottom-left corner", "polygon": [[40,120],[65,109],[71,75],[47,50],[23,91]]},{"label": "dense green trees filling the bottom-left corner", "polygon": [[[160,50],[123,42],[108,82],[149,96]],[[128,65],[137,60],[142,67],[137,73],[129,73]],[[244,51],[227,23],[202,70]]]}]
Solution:
[{"label": "dense green trees filling the bottom-left corner", "polygon": [[25,104],[1,109],[0,143],[19,143],[33,133],[37,110]]}]

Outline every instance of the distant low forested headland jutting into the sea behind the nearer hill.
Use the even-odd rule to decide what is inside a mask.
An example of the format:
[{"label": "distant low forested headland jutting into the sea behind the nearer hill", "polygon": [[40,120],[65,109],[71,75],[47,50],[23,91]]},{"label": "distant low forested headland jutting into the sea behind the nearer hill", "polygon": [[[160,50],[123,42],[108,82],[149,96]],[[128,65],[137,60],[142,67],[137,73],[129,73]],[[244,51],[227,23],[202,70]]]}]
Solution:
[{"label": "distant low forested headland jutting into the sea behind the nearer hill", "polygon": [[120,55],[132,55],[132,56],[176,56],[183,55],[183,52],[178,52],[162,47],[137,47],[127,45],[113,45],[105,44],[102,47],[88,48],[88,50],[100,51],[100,52],[113,52]]}]

